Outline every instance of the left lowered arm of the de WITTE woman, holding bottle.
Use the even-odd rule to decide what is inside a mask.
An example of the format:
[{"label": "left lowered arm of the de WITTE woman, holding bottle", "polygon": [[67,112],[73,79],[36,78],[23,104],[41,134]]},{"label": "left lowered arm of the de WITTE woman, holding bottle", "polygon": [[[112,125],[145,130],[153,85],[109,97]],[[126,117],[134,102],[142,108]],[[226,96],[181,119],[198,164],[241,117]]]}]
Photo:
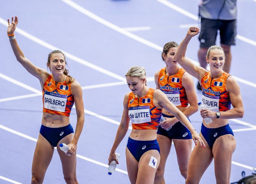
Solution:
[{"label": "left lowered arm of the de WITTE woman, holding bottle", "polygon": [[124,97],[124,102],[123,102],[123,106],[124,106],[124,110],[123,110],[123,115],[122,115],[122,119],[121,119],[121,123],[117,129],[117,133],[116,133],[116,138],[114,140],[114,144],[111,148],[110,154],[109,154],[109,158],[108,158],[108,165],[114,160],[117,164],[118,164],[118,160],[116,159],[116,149],[119,146],[119,144],[121,143],[121,141],[123,140],[124,136],[126,135],[128,128],[129,128],[129,122],[130,122],[130,118],[128,116],[128,97],[129,97],[129,93],[127,93]]}]

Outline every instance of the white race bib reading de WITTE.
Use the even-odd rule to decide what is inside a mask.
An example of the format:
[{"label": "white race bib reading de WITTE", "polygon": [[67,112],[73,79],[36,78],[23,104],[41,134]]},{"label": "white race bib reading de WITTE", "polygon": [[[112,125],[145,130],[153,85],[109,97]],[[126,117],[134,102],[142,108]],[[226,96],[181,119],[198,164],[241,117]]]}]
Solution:
[{"label": "white race bib reading de WITTE", "polygon": [[134,124],[151,122],[149,106],[129,107],[128,114]]}]

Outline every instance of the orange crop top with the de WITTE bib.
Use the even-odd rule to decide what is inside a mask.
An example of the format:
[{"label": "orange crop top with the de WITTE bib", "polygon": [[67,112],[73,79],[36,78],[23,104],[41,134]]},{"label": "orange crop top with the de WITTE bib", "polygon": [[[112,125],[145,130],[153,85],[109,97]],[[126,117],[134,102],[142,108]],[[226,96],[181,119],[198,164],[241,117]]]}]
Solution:
[{"label": "orange crop top with the de WITTE bib", "polygon": [[135,130],[157,130],[162,115],[162,109],[153,104],[155,89],[149,88],[147,94],[138,100],[133,92],[128,98],[129,118],[132,129]]}]

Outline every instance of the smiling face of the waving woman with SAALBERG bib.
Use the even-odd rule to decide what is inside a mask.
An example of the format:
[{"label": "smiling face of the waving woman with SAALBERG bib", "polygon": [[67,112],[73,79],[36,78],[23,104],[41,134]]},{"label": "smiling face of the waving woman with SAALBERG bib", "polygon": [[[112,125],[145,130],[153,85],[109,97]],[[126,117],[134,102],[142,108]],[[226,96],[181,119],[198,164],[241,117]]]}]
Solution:
[{"label": "smiling face of the waving woman with SAALBERG bib", "polygon": [[62,74],[65,71],[66,61],[62,53],[53,53],[50,55],[50,61],[47,62],[48,68],[52,74]]}]

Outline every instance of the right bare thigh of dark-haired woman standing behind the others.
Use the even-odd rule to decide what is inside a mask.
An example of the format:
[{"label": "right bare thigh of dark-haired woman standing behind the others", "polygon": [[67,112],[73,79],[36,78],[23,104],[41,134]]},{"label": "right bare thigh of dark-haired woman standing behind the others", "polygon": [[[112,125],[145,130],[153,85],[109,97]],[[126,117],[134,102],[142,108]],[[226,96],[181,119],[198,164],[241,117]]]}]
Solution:
[{"label": "right bare thigh of dark-haired woman standing behind the others", "polygon": [[[173,139],[177,160],[180,168],[188,167],[188,160],[192,152],[192,139]],[[161,152],[162,160],[162,152]]]}]

